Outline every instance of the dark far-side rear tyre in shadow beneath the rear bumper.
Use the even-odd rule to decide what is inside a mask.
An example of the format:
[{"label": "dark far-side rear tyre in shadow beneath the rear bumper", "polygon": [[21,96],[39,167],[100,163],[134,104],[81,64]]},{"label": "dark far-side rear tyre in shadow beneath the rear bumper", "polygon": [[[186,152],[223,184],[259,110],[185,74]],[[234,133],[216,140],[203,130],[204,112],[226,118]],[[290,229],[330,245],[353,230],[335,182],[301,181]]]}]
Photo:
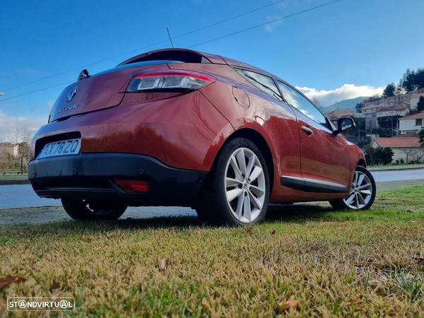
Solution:
[{"label": "dark far-side rear tyre in shadow beneath the rear bumper", "polygon": [[124,204],[92,202],[84,199],[62,198],[62,205],[73,220],[117,220],[126,210]]}]

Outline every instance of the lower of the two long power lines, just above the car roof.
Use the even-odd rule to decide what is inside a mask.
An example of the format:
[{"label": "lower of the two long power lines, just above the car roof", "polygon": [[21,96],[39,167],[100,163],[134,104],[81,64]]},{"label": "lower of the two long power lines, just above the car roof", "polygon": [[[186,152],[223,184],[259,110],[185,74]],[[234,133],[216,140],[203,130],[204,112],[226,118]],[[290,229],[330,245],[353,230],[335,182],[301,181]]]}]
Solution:
[{"label": "lower of the two long power lines, just above the car roof", "polygon": [[[283,1],[285,1],[285,0],[283,0]],[[192,47],[197,47],[197,46],[199,46],[199,45],[204,45],[204,44],[206,44],[206,43],[210,43],[210,42],[214,42],[214,41],[217,41],[217,40],[221,40],[221,39],[223,39],[223,38],[225,38],[225,37],[231,37],[231,36],[233,36],[233,35],[237,35],[237,34],[240,34],[240,33],[243,33],[243,32],[247,32],[247,31],[249,31],[249,30],[253,30],[253,29],[255,29],[255,28],[260,28],[260,27],[262,27],[262,26],[264,26],[264,25],[269,25],[269,24],[272,24],[272,23],[275,23],[275,22],[277,22],[277,21],[281,21],[281,20],[285,20],[285,19],[287,19],[287,18],[291,18],[291,17],[293,17],[293,16],[299,16],[300,14],[302,14],[302,13],[307,13],[307,12],[310,12],[310,11],[314,11],[314,10],[317,10],[318,8],[322,8],[322,7],[324,7],[324,6],[329,6],[329,5],[331,5],[331,4],[335,4],[336,2],[340,2],[341,0],[333,0],[333,1],[329,1],[329,2],[326,2],[325,4],[320,4],[319,6],[314,6],[314,7],[312,7],[312,8],[307,8],[307,9],[305,9],[305,10],[302,10],[302,11],[298,11],[298,12],[295,12],[295,13],[291,13],[291,14],[289,14],[288,16],[283,16],[283,17],[281,17],[281,18],[276,18],[276,19],[274,19],[274,20],[270,20],[270,21],[268,21],[268,22],[264,22],[264,23],[260,23],[260,24],[257,24],[257,25],[253,25],[253,26],[251,26],[251,27],[249,27],[249,28],[245,28],[245,29],[242,29],[242,30],[238,30],[238,31],[235,31],[235,32],[232,32],[232,33],[228,33],[228,34],[226,34],[226,35],[221,35],[221,36],[219,36],[219,37],[214,37],[213,39],[210,39],[210,40],[206,40],[206,41],[204,41],[204,42],[199,42],[199,43],[196,43],[195,45],[192,45],[192,46],[190,46],[190,47],[188,47],[189,49],[190,48],[192,48]],[[282,1],[281,1],[282,2]],[[256,9],[256,10],[259,10],[259,9]],[[246,13],[247,14],[247,13]],[[240,15],[239,15],[240,16]],[[177,36],[177,37],[179,37],[179,36]],[[176,37],[172,37],[173,39],[175,39]],[[157,42],[157,43],[155,43],[155,44],[153,44],[153,45],[158,45],[158,44],[160,44],[160,43],[163,43],[163,42],[167,42],[168,40],[164,40],[164,41],[161,41],[161,42]],[[148,46],[146,46],[146,47],[151,47],[151,46],[153,46],[153,45],[148,45]],[[146,48],[146,47],[143,47],[143,48]],[[142,48],[140,48],[140,49],[142,49]],[[136,50],[138,50],[138,49],[135,49],[135,50],[133,50],[133,51],[131,51],[131,52],[134,52],[134,51],[136,51]],[[126,52],[126,53],[122,53],[122,54],[119,54],[119,55],[115,55],[114,57],[109,57],[109,58],[107,58],[107,59],[103,59],[102,61],[107,61],[107,60],[109,60],[109,59],[114,59],[115,57],[119,57],[119,56],[121,56],[121,55],[124,55],[124,54],[128,54],[128,53],[130,53],[130,52]],[[95,63],[92,63],[92,64],[88,64],[88,66],[90,66],[90,65],[93,65],[93,64],[98,64],[98,63],[101,63],[102,61],[98,61],[98,62],[95,62]],[[63,72],[63,73],[60,73],[60,75],[61,74],[64,74],[64,73],[69,73],[69,71],[66,71],[66,72]],[[48,78],[52,78],[52,77],[55,77],[55,76],[58,76],[58,75],[54,75],[54,76],[49,76]],[[42,80],[39,80],[39,81],[42,81]],[[35,83],[36,81],[34,81],[33,83]],[[33,93],[37,93],[37,92],[40,92],[40,91],[42,91],[42,90],[48,90],[48,89],[50,89],[50,88],[54,88],[54,87],[57,87],[57,86],[62,86],[62,85],[65,85],[65,84],[69,84],[69,83],[73,83],[73,81],[70,81],[70,82],[66,82],[66,83],[61,83],[61,84],[57,84],[57,85],[54,85],[54,86],[49,86],[49,87],[47,87],[47,88],[40,88],[39,90],[33,90],[33,91],[30,91],[30,92],[28,92],[28,93],[22,93],[22,94],[19,94],[19,95],[14,95],[14,96],[11,96],[10,98],[2,98],[1,100],[0,100],[0,102],[2,102],[2,101],[4,101],[4,100],[11,100],[11,99],[13,99],[13,98],[18,98],[18,97],[20,97],[20,96],[24,96],[24,95],[29,95],[29,94],[33,94]],[[23,86],[24,85],[27,85],[27,84],[23,84]],[[8,90],[10,90],[11,88],[8,88]],[[5,91],[5,90],[4,90]]]}]

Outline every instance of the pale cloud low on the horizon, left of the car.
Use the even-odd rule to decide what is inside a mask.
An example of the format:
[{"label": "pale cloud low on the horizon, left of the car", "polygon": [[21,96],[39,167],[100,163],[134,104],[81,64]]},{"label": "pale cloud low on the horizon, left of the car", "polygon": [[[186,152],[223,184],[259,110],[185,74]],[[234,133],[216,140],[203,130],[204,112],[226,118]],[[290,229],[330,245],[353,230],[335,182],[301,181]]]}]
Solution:
[{"label": "pale cloud low on the horizon, left of the car", "polygon": [[21,141],[21,135],[33,135],[46,122],[46,117],[15,117],[0,110],[0,142],[14,142],[16,137]]}]

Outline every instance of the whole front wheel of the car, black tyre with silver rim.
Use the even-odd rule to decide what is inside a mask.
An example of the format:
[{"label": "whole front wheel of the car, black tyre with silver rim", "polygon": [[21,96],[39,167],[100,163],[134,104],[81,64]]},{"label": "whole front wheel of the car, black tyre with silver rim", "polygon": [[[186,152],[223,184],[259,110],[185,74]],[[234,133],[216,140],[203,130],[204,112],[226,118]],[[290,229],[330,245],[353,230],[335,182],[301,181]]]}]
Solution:
[{"label": "whole front wheel of the car, black tyre with silver rim", "polygon": [[351,192],[344,199],[330,200],[331,206],[338,210],[367,210],[375,200],[377,187],[374,177],[365,167],[358,165],[353,173]]}]

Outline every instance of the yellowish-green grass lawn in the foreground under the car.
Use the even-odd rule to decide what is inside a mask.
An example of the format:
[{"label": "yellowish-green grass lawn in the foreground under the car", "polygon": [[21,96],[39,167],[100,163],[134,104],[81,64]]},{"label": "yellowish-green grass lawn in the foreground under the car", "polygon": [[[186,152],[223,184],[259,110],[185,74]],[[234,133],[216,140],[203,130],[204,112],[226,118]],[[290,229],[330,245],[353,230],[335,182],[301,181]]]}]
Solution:
[{"label": "yellowish-green grass lawn in the foreground under the car", "polygon": [[364,212],[272,206],[252,228],[194,217],[1,228],[0,278],[26,281],[0,289],[0,314],[7,297],[60,296],[76,317],[273,317],[293,296],[298,310],[281,314],[423,317],[423,194],[382,192]]}]

